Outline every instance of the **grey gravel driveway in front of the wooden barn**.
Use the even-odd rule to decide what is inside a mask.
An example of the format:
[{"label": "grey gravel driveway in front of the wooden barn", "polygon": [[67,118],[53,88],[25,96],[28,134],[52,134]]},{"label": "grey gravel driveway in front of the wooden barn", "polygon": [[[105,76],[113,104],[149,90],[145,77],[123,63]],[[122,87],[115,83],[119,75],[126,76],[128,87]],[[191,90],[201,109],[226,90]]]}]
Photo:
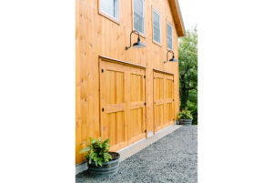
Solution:
[{"label": "grey gravel driveway in front of the wooden barn", "polygon": [[119,165],[111,178],[90,178],[82,172],[76,183],[197,182],[197,126],[180,127]]}]

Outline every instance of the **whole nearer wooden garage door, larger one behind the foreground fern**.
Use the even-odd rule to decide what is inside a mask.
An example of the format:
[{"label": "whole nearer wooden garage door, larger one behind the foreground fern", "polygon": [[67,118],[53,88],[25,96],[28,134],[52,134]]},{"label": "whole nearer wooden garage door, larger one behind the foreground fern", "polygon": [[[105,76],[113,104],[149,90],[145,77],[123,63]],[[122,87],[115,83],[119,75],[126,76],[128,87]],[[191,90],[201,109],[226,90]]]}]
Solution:
[{"label": "whole nearer wooden garage door, larger one behind the foreground fern", "polygon": [[146,137],[145,69],[100,61],[101,137],[111,150]]}]

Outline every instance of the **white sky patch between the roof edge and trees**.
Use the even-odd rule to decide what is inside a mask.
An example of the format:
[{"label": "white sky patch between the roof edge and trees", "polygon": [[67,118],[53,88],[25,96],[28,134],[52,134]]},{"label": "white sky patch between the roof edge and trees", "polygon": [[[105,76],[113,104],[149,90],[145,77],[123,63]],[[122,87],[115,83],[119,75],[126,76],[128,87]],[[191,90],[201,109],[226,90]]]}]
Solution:
[{"label": "white sky patch between the roof edge and trees", "polygon": [[197,0],[178,0],[184,25],[187,29],[197,25]]}]

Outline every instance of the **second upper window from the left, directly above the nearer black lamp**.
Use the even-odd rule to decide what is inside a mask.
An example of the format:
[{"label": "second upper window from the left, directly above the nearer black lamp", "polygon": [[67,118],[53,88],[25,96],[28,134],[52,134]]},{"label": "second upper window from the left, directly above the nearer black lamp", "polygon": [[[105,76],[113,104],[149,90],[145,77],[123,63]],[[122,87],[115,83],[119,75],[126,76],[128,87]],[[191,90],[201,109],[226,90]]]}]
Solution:
[{"label": "second upper window from the left, directly above the nearer black lamp", "polygon": [[133,0],[134,29],[144,35],[144,0]]}]

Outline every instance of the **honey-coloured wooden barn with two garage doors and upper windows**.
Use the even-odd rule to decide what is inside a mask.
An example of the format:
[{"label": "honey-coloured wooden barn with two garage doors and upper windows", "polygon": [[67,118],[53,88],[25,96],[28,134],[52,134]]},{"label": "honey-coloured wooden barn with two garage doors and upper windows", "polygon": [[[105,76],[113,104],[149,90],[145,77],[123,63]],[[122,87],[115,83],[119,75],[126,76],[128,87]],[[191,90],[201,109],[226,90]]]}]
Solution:
[{"label": "honey-coloured wooden barn with two garage doors and upper windows", "polygon": [[81,142],[117,151],[175,123],[177,0],[76,0],[76,165]]}]

